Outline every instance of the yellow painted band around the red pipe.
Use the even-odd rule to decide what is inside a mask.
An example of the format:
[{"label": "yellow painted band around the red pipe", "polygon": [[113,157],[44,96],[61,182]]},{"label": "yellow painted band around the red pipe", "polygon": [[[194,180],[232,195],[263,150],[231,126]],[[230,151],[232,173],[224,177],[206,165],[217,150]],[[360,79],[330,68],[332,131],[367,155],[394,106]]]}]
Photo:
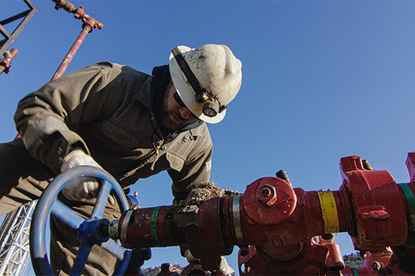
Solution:
[{"label": "yellow painted band around the red pipe", "polygon": [[326,231],[326,234],[339,233],[339,217],[337,213],[337,207],[335,206],[333,192],[331,192],[331,190],[326,192],[319,190],[317,191],[317,194],[320,198],[320,206],[322,207],[324,230]]}]

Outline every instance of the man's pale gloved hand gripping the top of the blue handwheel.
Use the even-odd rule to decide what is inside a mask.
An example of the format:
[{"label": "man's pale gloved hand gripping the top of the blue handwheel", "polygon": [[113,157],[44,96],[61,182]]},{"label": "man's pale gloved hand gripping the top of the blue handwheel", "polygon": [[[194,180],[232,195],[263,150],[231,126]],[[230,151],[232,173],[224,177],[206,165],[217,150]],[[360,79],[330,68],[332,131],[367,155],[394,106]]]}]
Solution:
[{"label": "man's pale gloved hand gripping the top of the blue handwheel", "polygon": [[[76,166],[93,166],[101,168],[95,160],[87,155],[83,150],[73,150],[64,158],[61,166],[61,172]],[[79,177],[73,179],[62,188],[62,194],[69,200],[77,201],[82,199],[92,199],[98,197],[100,185],[98,181],[92,177]],[[108,201],[114,205],[114,198],[109,195]]]}]

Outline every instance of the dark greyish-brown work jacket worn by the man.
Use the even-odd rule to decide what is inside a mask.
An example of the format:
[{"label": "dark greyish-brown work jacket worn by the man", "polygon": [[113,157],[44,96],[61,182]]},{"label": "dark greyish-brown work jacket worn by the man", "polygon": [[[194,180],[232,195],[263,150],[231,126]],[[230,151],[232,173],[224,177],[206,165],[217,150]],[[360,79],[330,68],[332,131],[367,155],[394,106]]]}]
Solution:
[{"label": "dark greyish-brown work jacket worn by the man", "polygon": [[152,112],[153,77],[108,61],[50,81],[19,102],[15,123],[28,152],[59,173],[84,148],[123,188],[167,170],[175,197],[209,181],[212,140],[205,123],[165,142]]}]

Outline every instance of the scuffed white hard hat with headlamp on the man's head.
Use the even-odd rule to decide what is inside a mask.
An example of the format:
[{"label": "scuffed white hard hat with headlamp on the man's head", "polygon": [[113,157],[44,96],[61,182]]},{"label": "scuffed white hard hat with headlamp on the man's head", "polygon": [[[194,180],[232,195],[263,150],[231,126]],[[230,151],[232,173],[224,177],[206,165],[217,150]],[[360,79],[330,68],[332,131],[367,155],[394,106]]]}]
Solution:
[{"label": "scuffed white hard hat with headlamp on the man's head", "polygon": [[238,94],[241,68],[241,61],[225,45],[178,46],[169,58],[170,75],[183,103],[211,124],[222,121],[228,103]]}]

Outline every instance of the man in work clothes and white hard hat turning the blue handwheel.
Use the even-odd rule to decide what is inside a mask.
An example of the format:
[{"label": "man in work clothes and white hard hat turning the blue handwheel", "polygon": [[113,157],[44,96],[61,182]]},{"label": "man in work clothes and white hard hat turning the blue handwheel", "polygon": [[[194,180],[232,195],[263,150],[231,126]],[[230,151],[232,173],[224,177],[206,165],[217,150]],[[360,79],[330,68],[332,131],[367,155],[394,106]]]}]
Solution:
[{"label": "man in work clothes and white hard hat turning the blue handwheel", "polygon": [[[0,215],[37,199],[60,172],[83,165],[107,170],[124,190],[167,170],[174,200],[185,199],[210,179],[205,122],[223,119],[240,86],[241,61],[214,44],[174,48],[169,65],[154,68],[152,76],[102,62],[50,81],[20,101],[21,139],[0,145]],[[94,179],[78,179],[63,188],[62,200],[87,215],[98,190]],[[104,217],[118,215],[111,201]],[[59,221],[50,224],[53,270],[68,274],[76,235]],[[86,273],[111,275],[115,259],[95,247]]]}]

